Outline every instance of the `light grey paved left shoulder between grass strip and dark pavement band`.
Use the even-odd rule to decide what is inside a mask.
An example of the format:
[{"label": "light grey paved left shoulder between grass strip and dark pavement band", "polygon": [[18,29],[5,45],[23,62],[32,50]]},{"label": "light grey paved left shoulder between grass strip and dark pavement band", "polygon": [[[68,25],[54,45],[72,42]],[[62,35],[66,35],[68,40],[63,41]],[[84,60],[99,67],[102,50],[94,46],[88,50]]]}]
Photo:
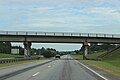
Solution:
[{"label": "light grey paved left shoulder between grass strip and dark pavement band", "polygon": [[29,63],[24,63],[24,64],[19,64],[19,65],[13,65],[13,66],[8,66],[8,67],[2,67],[0,68],[0,76],[8,74],[8,73],[12,73],[18,70],[22,70],[31,66],[35,66],[35,65],[39,65],[45,62],[48,62],[51,60],[38,60],[35,62],[29,62]]}]

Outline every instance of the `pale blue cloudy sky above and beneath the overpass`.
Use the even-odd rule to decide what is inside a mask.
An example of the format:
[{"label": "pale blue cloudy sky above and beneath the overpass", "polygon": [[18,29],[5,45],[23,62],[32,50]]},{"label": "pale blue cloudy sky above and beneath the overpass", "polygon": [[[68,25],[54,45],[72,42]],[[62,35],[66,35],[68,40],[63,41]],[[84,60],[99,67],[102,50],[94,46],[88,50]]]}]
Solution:
[{"label": "pale blue cloudy sky above and beneath the overpass", "polygon": [[[0,31],[120,34],[120,0],[0,0]],[[32,47],[74,50],[80,45]]]}]

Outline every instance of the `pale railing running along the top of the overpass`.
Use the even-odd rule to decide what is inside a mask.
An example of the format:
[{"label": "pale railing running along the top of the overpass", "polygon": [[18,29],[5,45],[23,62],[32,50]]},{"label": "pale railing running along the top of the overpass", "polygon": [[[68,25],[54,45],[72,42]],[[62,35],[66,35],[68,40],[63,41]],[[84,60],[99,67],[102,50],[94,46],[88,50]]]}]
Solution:
[{"label": "pale railing running along the top of the overpass", "polygon": [[85,36],[85,37],[110,37],[120,38],[120,34],[101,33],[67,33],[67,32],[32,32],[32,31],[0,31],[0,35],[44,35],[44,36]]}]

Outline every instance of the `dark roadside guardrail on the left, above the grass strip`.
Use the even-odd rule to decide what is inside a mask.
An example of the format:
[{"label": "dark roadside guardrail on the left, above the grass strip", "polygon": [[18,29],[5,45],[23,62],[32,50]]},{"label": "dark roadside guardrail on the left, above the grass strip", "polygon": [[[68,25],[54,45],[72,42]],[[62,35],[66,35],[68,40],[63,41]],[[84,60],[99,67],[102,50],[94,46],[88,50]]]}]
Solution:
[{"label": "dark roadside guardrail on the left, above the grass strip", "polygon": [[17,62],[17,61],[24,61],[24,60],[34,60],[34,59],[40,59],[40,57],[1,59],[1,60],[0,60],[0,64]]}]

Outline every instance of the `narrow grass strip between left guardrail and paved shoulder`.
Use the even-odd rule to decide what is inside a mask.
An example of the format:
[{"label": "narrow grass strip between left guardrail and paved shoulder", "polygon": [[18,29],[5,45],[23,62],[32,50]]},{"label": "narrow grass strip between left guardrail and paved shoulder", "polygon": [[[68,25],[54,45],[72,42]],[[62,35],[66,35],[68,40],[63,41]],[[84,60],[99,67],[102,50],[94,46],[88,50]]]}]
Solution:
[{"label": "narrow grass strip between left guardrail and paved shoulder", "polygon": [[37,62],[39,60],[47,60],[47,58],[40,58],[38,60],[25,60],[25,61],[4,63],[4,64],[0,64],[0,67],[7,67],[7,66],[19,65],[19,64],[29,63],[29,62]]}]

